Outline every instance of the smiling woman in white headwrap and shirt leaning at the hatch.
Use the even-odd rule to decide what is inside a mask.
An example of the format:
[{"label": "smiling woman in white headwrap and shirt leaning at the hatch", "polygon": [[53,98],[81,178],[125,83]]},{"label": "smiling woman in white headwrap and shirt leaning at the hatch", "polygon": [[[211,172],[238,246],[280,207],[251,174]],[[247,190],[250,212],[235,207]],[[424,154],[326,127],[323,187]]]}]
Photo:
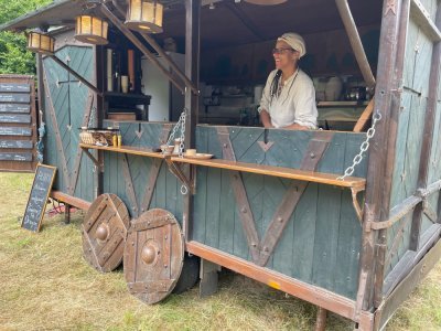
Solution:
[{"label": "smiling woman in white headwrap and shirt leaning at the hatch", "polygon": [[305,53],[304,40],[297,33],[277,40],[272,50],[276,70],[269,74],[258,109],[263,127],[316,129],[314,85],[298,64]]}]

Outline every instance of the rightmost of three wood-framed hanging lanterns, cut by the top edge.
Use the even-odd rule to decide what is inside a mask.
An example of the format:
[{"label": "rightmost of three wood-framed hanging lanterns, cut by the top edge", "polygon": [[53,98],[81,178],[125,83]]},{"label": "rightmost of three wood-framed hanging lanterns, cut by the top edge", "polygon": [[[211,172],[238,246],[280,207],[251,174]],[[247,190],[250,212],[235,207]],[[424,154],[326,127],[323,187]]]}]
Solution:
[{"label": "rightmost of three wood-framed hanging lanterns, cut by the top edge", "polygon": [[161,33],[164,7],[158,1],[129,0],[126,25],[146,33]]}]

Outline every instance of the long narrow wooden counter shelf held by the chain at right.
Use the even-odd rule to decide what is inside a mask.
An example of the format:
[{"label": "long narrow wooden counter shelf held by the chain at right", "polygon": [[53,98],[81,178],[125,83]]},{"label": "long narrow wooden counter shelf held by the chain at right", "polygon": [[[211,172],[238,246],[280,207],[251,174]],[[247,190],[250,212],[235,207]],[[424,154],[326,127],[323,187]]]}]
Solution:
[{"label": "long narrow wooden counter shelf held by the chain at right", "polygon": [[189,159],[179,157],[172,157],[171,161],[209,167],[209,168],[219,168],[225,170],[235,170],[235,171],[273,175],[273,177],[308,181],[320,184],[343,186],[349,189],[354,188],[364,190],[366,185],[366,180],[363,178],[347,177],[344,180],[338,180],[337,178],[340,175],[337,174],[304,171],[304,170],[275,167],[275,166],[261,166],[261,164],[234,162],[234,161],[218,160],[218,159],[201,160],[201,159]]}]

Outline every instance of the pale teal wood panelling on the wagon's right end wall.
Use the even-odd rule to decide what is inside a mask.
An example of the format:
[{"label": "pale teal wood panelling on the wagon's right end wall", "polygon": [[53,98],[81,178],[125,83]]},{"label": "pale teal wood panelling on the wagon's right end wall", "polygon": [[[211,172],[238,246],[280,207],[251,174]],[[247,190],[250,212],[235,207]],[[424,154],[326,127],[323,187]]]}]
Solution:
[{"label": "pale teal wood panelling on the wagon's right end wall", "polygon": [[[434,18],[437,1],[421,1],[428,12]],[[404,93],[401,94],[401,111],[398,122],[398,137],[396,142],[395,168],[392,175],[392,189],[390,194],[390,207],[398,205],[405,199],[415,194],[418,182],[420,154],[422,148],[422,135],[427,111],[427,97],[429,93],[429,77],[432,62],[433,43],[424,34],[424,31],[411,19],[408,29],[407,50],[404,72]],[[439,121],[439,114],[435,122]],[[438,127],[438,128],[437,128]],[[439,132],[439,124],[435,124],[434,139]],[[432,163],[437,147],[432,146],[429,168],[429,183],[435,166]],[[433,169],[432,169],[433,168]],[[438,203],[437,203],[438,204]],[[422,231],[429,226],[423,216]],[[392,249],[394,256],[386,266],[386,275],[395,267],[406,254],[410,242],[411,214],[396,223],[387,232],[388,252]],[[399,241],[396,238],[399,237]]]}]

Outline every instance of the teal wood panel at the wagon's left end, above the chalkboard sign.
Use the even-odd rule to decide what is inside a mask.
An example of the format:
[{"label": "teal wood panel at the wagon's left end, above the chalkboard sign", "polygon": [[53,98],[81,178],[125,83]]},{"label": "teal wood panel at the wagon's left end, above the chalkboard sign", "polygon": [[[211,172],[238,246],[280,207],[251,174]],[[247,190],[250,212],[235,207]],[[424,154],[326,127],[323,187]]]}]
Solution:
[{"label": "teal wood panel at the wagon's left end, above the chalkboard sign", "polygon": [[[64,62],[71,61],[68,65],[76,70],[82,76],[92,77],[93,53],[90,47],[66,46],[60,50],[56,55]],[[58,129],[62,138],[66,166],[69,175],[73,177],[74,164],[78,148],[78,130],[82,126],[85,106],[88,97],[88,88],[84,84],[78,84],[75,77],[67,74],[67,71],[50,57],[44,60],[44,68],[47,77],[49,93],[53,100]],[[47,114],[49,104],[46,103],[45,121],[47,128],[46,136],[46,157],[50,164],[57,167],[58,172],[62,171],[62,161],[57,152],[54,128],[50,115]],[[71,111],[71,116],[69,116]],[[74,195],[86,201],[94,199],[94,174],[93,163],[88,158],[84,157],[80,161],[79,174]],[[63,175],[57,175],[56,189],[67,193],[69,183],[65,182]]]}]

